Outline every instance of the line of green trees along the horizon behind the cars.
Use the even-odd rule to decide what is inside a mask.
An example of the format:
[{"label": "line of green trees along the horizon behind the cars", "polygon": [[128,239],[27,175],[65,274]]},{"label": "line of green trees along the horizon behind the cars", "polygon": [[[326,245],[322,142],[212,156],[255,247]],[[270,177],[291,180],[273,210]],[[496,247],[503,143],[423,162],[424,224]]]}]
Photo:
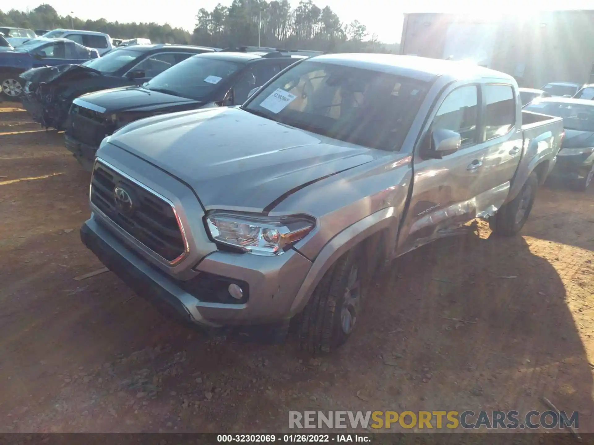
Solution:
[{"label": "line of green trees along the horizon behind the cars", "polygon": [[[30,29],[72,28],[100,31],[119,39],[146,37],[153,43],[182,43],[230,47],[258,45],[258,26],[262,46],[312,49],[328,52],[397,52],[397,46],[384,45],[364,24],[355,20],[345,24],[330,9],[320,9],[312,0],[302,0],[292,8],[288,0],[233,0],[229,7],[218,4],[212,11],[201,8],[192,33],[169,24],[119,23],[82,20],[59,15],[43,4],[31,11],[0,10],[0,26]],[[394,40],[397,36],[394,36]]]}]

